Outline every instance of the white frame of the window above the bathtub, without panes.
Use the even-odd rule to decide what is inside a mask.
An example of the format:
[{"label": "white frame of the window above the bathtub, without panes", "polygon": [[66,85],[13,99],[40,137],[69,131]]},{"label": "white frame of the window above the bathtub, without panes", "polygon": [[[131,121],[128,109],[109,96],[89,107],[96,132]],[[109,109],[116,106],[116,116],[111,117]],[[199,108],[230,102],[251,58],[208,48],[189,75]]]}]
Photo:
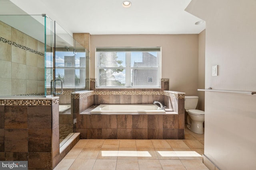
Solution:
[{"label": "white frame of the window above the bathtub, without panes", "polygon": [[[97,49],[100,50],[104,50],[106,49],[106,51],[109,52],[125,52],[126,54],[126,66],[124,67],[98,67],[98,53],[99,51],[97,51]],[[134,52],[132,50],[137,49],[138,51],[140,49],[144,50],[145,52],[148,51],[152,51],[153,49],[158,49],[159,53],[157,56],[158,59],[158,67],[132,67],[131,66],[131,53]],[[148,51],[146,51],[148,49]],[[121,50],[121,51],[118,51]],[[143,52],[143,51],[142,51]],[[162,63],[161,63],[161,47],[96,47],[96,51],[95,51],[95,77],[96,77],[96,88],[160,88],[161,87],[161,83],[160,83],[160,79],[161,79],[161,74],[162,74]],[[125,82],[125,86],[100,86],[100,81],[97,81],[99,79],[99,75],[100,75],[100,69],[120,69],[120,68],[124,68],[125,69],[125,74],[126,74],[126,82]],[[132,69],[148,69],[148,68],[152,68],[152,69],[156,69],[157,70],[157,80],[158,80],[158,84],[157,86],[132,86],[132,81],[131,81],[131,72]],[[151,82],[150,82],[151,83]]]}]

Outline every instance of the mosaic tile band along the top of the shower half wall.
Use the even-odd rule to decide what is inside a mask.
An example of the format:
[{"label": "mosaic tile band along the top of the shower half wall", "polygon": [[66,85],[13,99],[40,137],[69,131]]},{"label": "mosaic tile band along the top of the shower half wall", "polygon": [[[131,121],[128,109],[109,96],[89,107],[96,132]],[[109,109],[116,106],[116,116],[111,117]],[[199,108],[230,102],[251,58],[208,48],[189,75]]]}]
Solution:
[{"label": "mosaic tile band along the top of the shower half wall", "polygon": [[[55,100],[55,101],[54,101]],[[0,105],[4,106],[52,106],[59,103],[54,100],[0,100]]]}]

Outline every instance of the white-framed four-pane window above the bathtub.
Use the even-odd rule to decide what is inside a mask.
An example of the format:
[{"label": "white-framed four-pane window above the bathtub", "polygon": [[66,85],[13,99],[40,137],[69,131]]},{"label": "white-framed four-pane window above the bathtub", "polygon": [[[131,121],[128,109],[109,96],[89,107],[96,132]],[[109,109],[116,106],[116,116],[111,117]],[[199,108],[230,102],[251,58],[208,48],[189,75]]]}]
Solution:
[{"label": "white-framed four-pane window above the bathtub", "polygon": [[96,48],[96,86],[160,87],[160,47]]}]

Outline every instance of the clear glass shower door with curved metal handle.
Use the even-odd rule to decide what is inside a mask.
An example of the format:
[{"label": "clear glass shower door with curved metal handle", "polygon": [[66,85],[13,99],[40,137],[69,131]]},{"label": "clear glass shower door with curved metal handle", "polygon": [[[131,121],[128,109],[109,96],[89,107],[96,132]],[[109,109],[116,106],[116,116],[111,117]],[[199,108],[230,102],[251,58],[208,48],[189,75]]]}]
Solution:
[{"label": "clear glass shower door with curved metal handle", "polygon": [[[76,48],[75,41],[55,21],[54,76],[55,96],[59,96],[60,147],[74,132],[75,124],[71,106],[72,93],[75,92]],[[61,94],[61,88],[63,93]]]}]

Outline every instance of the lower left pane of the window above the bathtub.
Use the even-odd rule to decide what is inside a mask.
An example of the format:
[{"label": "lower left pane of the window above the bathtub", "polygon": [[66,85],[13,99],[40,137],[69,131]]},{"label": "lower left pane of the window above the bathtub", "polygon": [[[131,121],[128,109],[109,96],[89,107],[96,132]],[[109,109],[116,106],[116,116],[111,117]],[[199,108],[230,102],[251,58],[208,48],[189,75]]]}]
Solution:
[{"label": "lower left pane of the window above the bathtub", "polygon": [[100,86],[125,86],[125,69],[99,69]]}]

